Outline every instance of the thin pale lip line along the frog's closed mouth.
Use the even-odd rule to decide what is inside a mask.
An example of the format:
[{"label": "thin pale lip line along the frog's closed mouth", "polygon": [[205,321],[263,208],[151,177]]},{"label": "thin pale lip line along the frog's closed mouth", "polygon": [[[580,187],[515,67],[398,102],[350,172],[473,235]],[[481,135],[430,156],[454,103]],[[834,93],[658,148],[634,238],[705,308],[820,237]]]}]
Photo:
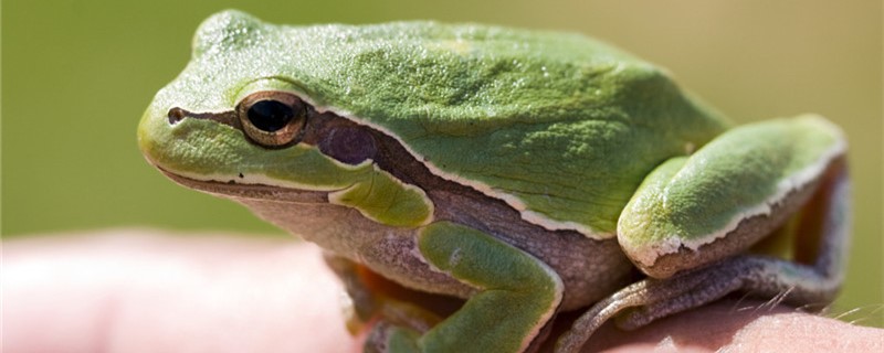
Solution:
[{"label": "thin pale lip line along the frog's closed mouth", "polygon": [[327,191],[311,191],[272,186],[265,184],[240,184],[233,182],[206,181],[181,176],[157,167],[166,178],[197,191],[228,199],[246,199],[291,203],[328,203]]}]

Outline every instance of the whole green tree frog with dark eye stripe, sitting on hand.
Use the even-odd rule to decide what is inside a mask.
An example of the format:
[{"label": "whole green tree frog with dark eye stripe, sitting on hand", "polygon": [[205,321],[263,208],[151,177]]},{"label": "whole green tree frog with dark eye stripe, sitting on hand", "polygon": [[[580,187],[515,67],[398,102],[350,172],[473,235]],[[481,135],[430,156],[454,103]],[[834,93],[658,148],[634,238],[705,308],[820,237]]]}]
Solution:
[{"label": "whole green tree frog with dark eye stripe, sitting on hand", "polygon": [[581,309],[556,345],[572,352],[613,317],[634,328],[734,291],[824,304],[842,280],[838,127],[732,127],[667,72],[579,34],[224,11],[138,143],[173,181],[335,259],[464,300],[443,317],[375,310],[399,318],[381,315],[369,350],[530,351]]}]

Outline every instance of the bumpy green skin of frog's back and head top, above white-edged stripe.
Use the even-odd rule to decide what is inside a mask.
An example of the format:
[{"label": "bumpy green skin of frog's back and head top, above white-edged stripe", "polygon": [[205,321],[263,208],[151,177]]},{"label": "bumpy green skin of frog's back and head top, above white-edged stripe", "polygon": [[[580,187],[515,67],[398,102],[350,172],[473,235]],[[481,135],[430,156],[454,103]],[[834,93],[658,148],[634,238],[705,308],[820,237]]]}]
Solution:
[{"label": "bumpy green skin of frog's back and head top, above white-edged stripe", "polygon": [[[146,116],[229,110],[243,87],[271,77],[390,132],[444,178],[547,227],[598,237],[613,234],[651,169],[725,128],[660,69],[580,35],[433,22],[276,26],[234,11],[200,26],[191,63]],[[239,172],[211,165],[193,173]],[[299,178],[288,172],[280,183]]]}]

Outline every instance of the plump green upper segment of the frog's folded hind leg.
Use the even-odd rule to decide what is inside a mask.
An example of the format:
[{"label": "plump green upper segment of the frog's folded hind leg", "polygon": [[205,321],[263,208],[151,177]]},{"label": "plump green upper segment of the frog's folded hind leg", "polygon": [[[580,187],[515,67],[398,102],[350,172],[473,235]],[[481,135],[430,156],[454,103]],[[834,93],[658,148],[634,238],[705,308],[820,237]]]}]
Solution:
[{"label": "plump green upper segment of the frog's folded hind leg", "polygon": [[620,216],[618,240],[655,278],[745,253],[806,207],[827,172],[843,169],[844,149],[840,130],[815,116],[734,129],[649,174]]}]

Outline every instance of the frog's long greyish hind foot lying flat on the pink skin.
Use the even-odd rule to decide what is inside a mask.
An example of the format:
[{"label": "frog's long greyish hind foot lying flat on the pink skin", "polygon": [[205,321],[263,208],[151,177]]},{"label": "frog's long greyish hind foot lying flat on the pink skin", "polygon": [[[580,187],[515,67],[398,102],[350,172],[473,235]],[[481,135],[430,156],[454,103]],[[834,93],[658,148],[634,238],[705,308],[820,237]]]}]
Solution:
[{"label": "frog's long greyish hind foot lying flat on the pink skin", "polygon": [[621,313],[615,320],[618,327],[633,330],[737,290],[798,304],[823,304],[839,282],[813,267],[791,261],[761,256],[729,258],[667,279],[641,280],[615,292],[575,321],[559,339],[556,352],[579,351],[597,329]]}]

